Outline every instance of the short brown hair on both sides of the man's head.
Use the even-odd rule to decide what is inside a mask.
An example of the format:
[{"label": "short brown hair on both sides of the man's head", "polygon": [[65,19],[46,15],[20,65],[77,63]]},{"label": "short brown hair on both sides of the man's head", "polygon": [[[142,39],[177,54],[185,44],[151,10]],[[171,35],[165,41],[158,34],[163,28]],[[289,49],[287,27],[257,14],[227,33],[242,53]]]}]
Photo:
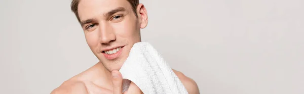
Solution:
[{"label": "short brown hair on both sides of the man's head", "polygon": [[[134,12],[135,16],[137,17],[136,8],[137,8],[137,6],[139,4],[139,0],[127,0],[127,1],[132,6],[133,12]],[[78,21],[80,22],[80,18],[79,18],[79,15],[78,15],[78,4],[79,4],[79,2],[80,2],[80,0],[72,0],[72,2],[71,2],[71,10],[76,15]]]}]

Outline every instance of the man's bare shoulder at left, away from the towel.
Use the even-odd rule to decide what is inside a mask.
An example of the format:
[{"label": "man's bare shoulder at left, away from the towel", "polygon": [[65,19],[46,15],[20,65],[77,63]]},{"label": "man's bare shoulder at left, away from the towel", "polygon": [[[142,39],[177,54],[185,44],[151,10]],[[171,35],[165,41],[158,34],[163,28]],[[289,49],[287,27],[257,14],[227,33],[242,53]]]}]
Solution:
[{"label": "man's bare shoulder at left, away from the towel", "polygon": [[54,89],[51,94],[87,94],[87,88],[84,82],[69,79]]}]

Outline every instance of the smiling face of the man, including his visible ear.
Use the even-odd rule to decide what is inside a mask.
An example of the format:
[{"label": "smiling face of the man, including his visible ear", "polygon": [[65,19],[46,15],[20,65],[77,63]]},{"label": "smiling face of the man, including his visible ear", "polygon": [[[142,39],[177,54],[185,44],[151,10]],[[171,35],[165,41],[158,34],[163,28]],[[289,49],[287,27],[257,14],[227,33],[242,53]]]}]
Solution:
[{"label": "smiling face of the man, including his visible ear", "polygon": [[127,0],[82,0],[78,16],[87,43],[108,71],[119,70],[134,43],[140,42],[140,28],[147,25],[144,6],[135,15]]}]

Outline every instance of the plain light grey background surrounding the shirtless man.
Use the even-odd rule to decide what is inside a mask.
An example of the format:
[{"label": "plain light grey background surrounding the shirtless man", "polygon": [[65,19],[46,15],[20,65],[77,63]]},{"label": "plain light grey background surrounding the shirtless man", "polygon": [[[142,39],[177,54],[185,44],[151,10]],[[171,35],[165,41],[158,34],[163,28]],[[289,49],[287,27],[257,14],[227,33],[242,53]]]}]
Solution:
[{"label": "plain light grey background surrounding the shirtless man", "polygon": [[[304,1],[140,2],[142,40],[201,93],[304,93]],[[5,0],[0,12],[0,93],[50,93],[98,62],[69,0]]]}]

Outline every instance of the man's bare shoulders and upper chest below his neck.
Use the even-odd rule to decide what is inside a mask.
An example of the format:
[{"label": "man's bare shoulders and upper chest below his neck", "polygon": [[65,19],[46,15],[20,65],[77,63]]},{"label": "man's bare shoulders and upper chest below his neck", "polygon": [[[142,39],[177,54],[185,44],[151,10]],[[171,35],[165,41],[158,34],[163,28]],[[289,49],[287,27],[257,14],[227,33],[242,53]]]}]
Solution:
[{"label": "man's bare shoulders and upper chest below his neck", "polygon": [[[192,79],[186,77],[181,72],[173,71],[181,80],[188,93],[199,93],[198,86]],[[110,73],[104,69],[101,63],[97,63],[83,73],[63,82],[58,88],[54,89],[51,94],[112,94],[110,79]],[[128,93],[141,94],[142,92],[131,82]]]}]

